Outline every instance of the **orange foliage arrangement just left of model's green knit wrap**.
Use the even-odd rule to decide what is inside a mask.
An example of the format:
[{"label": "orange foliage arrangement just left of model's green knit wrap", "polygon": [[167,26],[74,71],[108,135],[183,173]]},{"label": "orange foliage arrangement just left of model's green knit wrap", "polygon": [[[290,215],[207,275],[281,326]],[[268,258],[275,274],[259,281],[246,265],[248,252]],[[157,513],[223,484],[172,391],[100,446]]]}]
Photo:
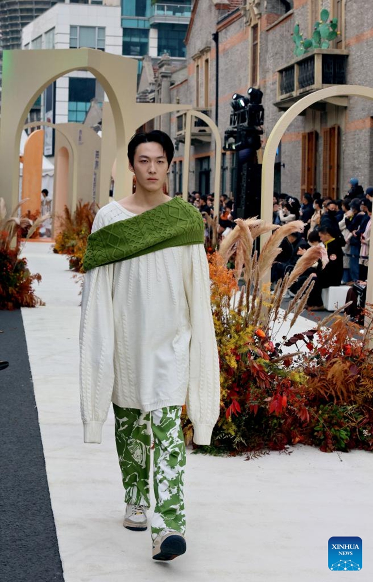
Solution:
[{"label": "orange foliage arrangement just left of model's green knit wrap", "polygon": [[98,206],[95,203],[77,203],[73,215],[65,206],[63,215],[59,216],[61,232],[55,237],[54,252],[69,256],[72,271],[83,272],[83,257],[86,253],[87,238],[91,232]]}]

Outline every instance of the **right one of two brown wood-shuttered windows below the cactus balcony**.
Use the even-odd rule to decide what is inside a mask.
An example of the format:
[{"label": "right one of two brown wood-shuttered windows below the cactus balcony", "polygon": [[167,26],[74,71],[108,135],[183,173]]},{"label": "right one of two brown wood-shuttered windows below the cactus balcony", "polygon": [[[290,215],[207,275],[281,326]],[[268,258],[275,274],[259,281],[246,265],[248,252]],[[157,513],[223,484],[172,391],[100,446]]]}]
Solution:
[{"label": "right one of two brown wood-shuttered windows below the cactus balcony", "polygon": [[322,130],[322,196],[339,198],[339,126]]}]

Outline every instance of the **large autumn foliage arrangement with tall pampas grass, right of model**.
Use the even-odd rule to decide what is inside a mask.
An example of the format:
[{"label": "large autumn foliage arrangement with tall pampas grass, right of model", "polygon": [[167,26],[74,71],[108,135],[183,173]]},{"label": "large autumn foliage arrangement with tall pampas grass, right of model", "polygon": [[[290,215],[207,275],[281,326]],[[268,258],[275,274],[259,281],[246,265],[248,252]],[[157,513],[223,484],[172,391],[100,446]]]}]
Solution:
[{"label": "large autumn foliage arrangement with tall pampas grass, right of model", "polygon": [[[308,249],[295,272],[271,293],[261,279],[279,254],[283,237],[303,226],[297,221],[279,228],[255,219],[236,222],[219,250],[209,255],[221,413],[211,445],[196,447],[197,452],[250,456],[296,443],[325,451],[373,450],[368,338],[356,339],[354,324],[338,313],[315,328],[292,333],[313,286],[311,278],[285,312],[281,309],[286,290],[315,260],[326,260],[325,250]],[[255,238],[273,229],[258,258]],[[228,268],[232,260],[234,266]],[[241,288],[239,282],[244,283]],[[193,427],[185,410],[182,420],[190,443]]]}]

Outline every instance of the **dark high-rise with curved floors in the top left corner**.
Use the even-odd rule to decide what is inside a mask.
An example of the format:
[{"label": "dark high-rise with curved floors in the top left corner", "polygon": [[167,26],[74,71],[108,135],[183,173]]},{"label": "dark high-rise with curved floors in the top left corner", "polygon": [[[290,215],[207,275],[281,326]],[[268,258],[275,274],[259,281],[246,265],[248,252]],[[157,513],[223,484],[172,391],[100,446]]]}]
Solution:
[{"label": "dark high-rise with curved floors in the top left corner", "polygon": [[64,0],[2,0],[0,2],[2,49],[21,48],[23,27],[61,1]]}]

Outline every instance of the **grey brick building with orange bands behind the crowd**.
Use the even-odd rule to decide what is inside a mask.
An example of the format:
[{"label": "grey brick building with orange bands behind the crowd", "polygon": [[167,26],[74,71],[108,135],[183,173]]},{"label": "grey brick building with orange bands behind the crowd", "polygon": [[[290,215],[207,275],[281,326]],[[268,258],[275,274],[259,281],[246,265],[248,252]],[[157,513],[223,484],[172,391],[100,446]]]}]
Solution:
[{"label": "grey brick building with orange bands behind the crowd", "polygon": [[[322,9],[329,11],[328,20],[338,18],[340,34],[329,48],[310,48],[294,56],[295,24],[300,24],[304,38],[311,38]],[[207,112],[217,120],[222,139],[229,126],[232,94],[245,95],[248,87],[264,93],[265,144],[283,111],[302,95],[334,84],[373,86],[369,0],[196,0],[184,42],[186,66],[170,79],[172,102],[191,102]],[[177,147],[170,185],[176,191],[185,171],[183,113],[173,115],[170,126]],[[234,188],[234,155],[223,152],[221,192],[227,194]],[[343,197],[352,176],[364,187],[373,184],[372,157],[371,102],[331,98],[308,108],[287,129],[276,158],[275,189],[297,197],[314,190]],[[212,189],[214,159],[211,132],[196,119],[190,190]]]}]

